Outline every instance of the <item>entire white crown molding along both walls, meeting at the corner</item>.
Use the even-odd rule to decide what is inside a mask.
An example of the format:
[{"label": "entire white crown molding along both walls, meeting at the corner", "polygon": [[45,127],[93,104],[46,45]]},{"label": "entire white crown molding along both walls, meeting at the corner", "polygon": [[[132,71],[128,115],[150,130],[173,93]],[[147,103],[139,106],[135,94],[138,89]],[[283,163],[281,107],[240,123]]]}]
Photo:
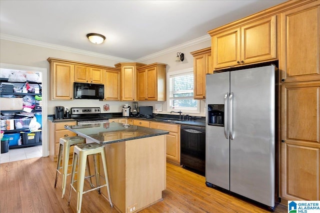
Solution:
[{"label": "entire white crown molding along both walls, meeting at the corner", "polygon": [[152,53],[150,55],[146,55],[146,56],[138,58],[136,60],[129,60],[126,58],[114,57],[114,56],[110,56],[110,55],[105,55],[105,54],[100,54],[100,53],[95,53],[95,52],[90,52],[90,51],[85,51],[85,50],[80,50],[80,49],[45,43],[45,42],[41,42],[41,41],[21,38],[21,37],[7,35],[7,34],[3,34],[3,33],[0,33],[0,39],[19,42],[19,43],[25,43],[25,44],[30,44],[30,45],[40,46],[40,47],[46,47],[46,48],[51,48],[51,49],[56,49],[56,50],[62,50],[62,51],[67,51],[67,52],[72,52],[72,53],[77,53],[77,54],[82,54],[82,55],[88,55],[88,56],[93,56],[93,57],[98,57],[98,58],[121,61],[121,62],[141,62],[141,61],[155,58],[155,57],[158,57],[158,56],[170,53],[170,52],[178,51],[181,48],[189,47],[189,46],[195,45],[197,43],[201,43],[201,42],[210,40],[211,37],[210,37],[210,35],[206,34],[204,36],[195,38],[193,40],[190,40],[190,41],[187,41],[184,43],[181,43],[179,45]]}]

